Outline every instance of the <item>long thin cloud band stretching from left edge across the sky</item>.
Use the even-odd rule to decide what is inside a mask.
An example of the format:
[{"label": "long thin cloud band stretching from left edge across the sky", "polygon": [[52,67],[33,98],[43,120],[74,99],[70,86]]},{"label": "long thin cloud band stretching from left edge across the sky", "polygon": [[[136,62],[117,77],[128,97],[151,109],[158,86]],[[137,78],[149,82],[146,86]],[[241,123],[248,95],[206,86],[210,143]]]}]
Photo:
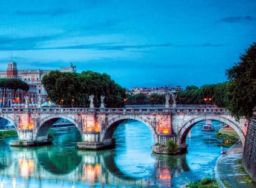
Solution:
[{"label": "long thin cloud band stretching from left edge across the sky", "polygon": [[[7,37],[0,36],[0,51],[15,51],[15,50],[51,50],[51,49],[92,49],[94,51],[130,51],[130,52],[151,52],[151,48],[186,48],[186,47],[223,47],[227,45],[213,44],[213,43],[202,43],[202,44],[184,44],[175,45],[171,43],[148,43],[148,44],[137,44],[137,45],[122,45],[117,42],[105,42],[105,43],[80,43],[73,45],[62,46],[58,45],[58,39],[69,39],[68,33],[52,34],[48,36],[32,36],[32,37]],[[56,46],[45,46],[45,42],[54,41]],[[52,43],[52,42],[51,42]]]}]

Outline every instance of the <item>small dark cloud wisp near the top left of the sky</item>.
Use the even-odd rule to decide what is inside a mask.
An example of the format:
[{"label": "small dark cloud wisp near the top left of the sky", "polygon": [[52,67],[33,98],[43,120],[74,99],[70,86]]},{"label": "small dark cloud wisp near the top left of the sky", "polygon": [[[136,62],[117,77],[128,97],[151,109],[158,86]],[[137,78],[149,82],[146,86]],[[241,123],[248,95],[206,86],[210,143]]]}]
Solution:
[{"label": "small dark cloud wisp near the top left of the sky", "polygon": [[68,14],[70,11],[64,10],[62,8],[56,10],[18,10],[15,11],[14,14],[16,15],[32,15],[32,16],[61,16],[63,14]]}]

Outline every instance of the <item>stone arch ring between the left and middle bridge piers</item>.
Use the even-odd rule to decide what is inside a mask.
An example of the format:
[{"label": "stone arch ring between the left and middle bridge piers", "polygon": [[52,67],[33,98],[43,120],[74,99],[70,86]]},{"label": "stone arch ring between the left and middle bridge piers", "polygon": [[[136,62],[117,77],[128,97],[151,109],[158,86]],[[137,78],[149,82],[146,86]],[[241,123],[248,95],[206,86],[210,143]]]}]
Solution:
[{"label": "stone arch ring between the left and middle bridge piers", "polygon": [[34,140],[44,140],[48,137],[48,131],[50,127],[59,119],[67,119],[72,124],[74,124],[77,129],[79,130],[80,135],[82,136],[82,127],[76,122],[76,120],[72,117],[65,116],[65,115],[54,115],[54,116],[47,116],[41,119],[39,124],[36,126],[34,130]]}]

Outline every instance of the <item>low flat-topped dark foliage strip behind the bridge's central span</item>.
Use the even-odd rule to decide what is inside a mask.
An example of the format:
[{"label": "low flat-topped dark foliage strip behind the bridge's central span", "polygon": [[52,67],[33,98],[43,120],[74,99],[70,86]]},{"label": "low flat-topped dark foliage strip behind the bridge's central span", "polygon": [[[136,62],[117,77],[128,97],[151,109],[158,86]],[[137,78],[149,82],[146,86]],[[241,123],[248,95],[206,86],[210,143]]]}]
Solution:
[{"label": "low flat-topped dark foliage strip behind the bridge's central span", "polygon": [[[128,95],[126,104],[129,105],[145,105],[145,104],[165,104],[165,95],[152,94],[147,96],[145,94]],[[170,99],[171,104],[171,99]]]}]

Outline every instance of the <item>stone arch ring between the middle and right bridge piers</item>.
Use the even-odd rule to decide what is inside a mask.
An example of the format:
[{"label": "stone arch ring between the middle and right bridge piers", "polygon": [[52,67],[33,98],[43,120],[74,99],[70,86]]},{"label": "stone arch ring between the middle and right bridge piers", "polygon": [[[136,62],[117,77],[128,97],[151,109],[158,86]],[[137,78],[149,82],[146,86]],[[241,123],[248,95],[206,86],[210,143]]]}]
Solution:
[{"label": "stone arch ring between the middle and right bridge piers", "polygon": [[142,122],[142,124],[146,125],[146,127],[148,127],[149,130],[151,130],[151,133],[154,136],[155,142],[156,143],[158,142],[156,128],[151,123],[151,119],[145,116],[131,116],[131,115],[123,115],[123,116],[117,116],[117,117],[111,118],[107,123],[107,128],[105,128],[105,130],[102,130],[102,133],[100,134],[100,138],[101,138],[100,141],[103,143],[111,142],[114,131],[116,130],[117,126],[120,125],[123,121],[129,120],[129,119]]}]

